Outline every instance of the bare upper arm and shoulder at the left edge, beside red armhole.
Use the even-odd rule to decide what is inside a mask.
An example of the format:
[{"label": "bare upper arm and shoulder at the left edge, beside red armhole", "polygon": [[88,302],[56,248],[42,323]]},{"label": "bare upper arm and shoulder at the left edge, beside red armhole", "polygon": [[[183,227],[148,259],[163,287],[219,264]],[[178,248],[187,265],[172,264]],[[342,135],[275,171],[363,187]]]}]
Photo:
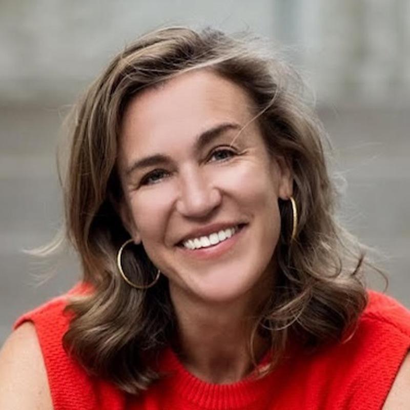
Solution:
[{"label": "bare upper arm and shoulder at the left edge, beside red armhole", "polygon": [[0,408],[53,408],[42,352],[30,322],[18,327],[0,351]]}]

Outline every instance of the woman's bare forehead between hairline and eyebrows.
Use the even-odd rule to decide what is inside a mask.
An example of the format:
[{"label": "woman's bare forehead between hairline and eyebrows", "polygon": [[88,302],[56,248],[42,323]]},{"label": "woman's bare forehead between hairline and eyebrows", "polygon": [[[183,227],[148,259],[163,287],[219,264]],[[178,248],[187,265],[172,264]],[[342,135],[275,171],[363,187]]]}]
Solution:
[{"label": "woman's bare forehead between hairline and eyebrows", "polygon": [[121,127],[122,149],[142,148],[195,136],[221,122],[246,125],[253,117],[247,92],[220,75],[198,70],[181,74],[132,99]]}]

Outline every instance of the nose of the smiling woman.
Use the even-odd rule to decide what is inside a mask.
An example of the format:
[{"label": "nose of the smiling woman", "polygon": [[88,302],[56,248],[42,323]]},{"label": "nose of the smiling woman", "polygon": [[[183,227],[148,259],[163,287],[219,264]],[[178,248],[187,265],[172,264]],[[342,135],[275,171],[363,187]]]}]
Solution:
[{"label": "nose of the smiling woman", "polygon": [[177,211],[187,217],[203,218],[216,209],[222,200],[220,191],[213,187],[200,170],[190,170],[181,177]]}]

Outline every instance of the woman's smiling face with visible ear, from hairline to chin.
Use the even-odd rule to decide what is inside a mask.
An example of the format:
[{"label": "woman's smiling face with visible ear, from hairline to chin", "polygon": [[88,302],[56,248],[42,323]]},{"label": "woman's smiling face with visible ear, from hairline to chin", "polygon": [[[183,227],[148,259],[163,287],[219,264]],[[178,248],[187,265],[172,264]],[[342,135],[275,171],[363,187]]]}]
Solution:
[{"label": "woman's smiling face with visible ear, from hairline to chin", "polygon": [[207,70],[144,91],[126,109],[121,216],[173,298],[230,301],[274,275],[278,198],[292,194],[292,179],[252,113],[241,87]]}]

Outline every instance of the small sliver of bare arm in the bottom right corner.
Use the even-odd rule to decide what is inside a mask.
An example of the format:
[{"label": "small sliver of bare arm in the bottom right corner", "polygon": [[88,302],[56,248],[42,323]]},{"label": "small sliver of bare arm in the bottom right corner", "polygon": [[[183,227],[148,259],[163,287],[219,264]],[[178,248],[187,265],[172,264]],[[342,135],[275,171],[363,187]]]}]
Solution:
[{"label": "small sliver of bare arm in the bottom right corner", "polygon": [[410,352],[400,366],[383,410],[410,410]]}]

